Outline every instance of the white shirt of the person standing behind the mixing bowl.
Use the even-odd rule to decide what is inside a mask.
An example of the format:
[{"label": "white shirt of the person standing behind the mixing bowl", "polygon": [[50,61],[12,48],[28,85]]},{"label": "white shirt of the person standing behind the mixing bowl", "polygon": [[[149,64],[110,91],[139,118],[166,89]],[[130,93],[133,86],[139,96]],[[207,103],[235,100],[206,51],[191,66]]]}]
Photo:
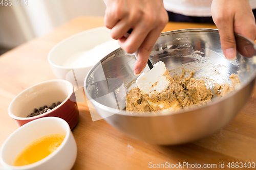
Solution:
[{"label": "white shirt of the person standing behind the mixing bowl", "polygon": [[[167,11],[186,16],[211,16],[211,2],[212,0],[163,0]],[[249,0],[249,2],[251,9],[256,9],[256,0]]]}]

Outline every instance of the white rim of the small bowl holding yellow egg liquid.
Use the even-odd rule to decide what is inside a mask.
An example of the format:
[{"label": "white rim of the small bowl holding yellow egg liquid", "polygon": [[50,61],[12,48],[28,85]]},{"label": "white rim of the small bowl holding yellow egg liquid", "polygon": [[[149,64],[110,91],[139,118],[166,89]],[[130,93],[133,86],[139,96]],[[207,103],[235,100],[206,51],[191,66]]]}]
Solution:
[{"label": "white rim of the small bowl holding yellow egg liquid", "polygon": [[[3,160],[3,158],[2,158],[2,152],[3,152],[3,150],[4,150],[4,148],[5,148],[5,145],[8,143],[8,140],[10,140],[10,138],[12,137],[12,136],[14,136],[16,133],[19,133],[18,131],[20,131],[21,129],[23,129],[24,127],[27,127],[27,126],[30,126],[30,124],[36,124],[37,122],[39,122],[39,121],[48,121],[48,120],[54,120],[54,122],[60,122],[62,125],[64,125],[65,126],[65,128],[66,128],[66,135],[65,135],[65,138],[63,139],[63,141],[61,142],[61,144],[59,145],[59,147],[53,152],[53,153],[51,153],[50,155],[48,155],[47,157],[45,157],[45,158],[43,158],[43,159],[41,159],[41,160],[39,160],[39,161],[37,161],[37,162],[34,162],[34,163],[31,163],[31,164],[28,164],[28,165],[23,165],[23,166],[13,166],[13,165],[10,165],[10,164],[8,164],[8,163],[6,163],[6,162],[4,162],[4,160]],[[28,169],[30,169],[30,168],[32,168],[32,167],[35,167],[35,166],[38,166],[38,165],[40,165],[40,164],[42,164],[42,163],[44,163],[44,162],[46,162],[46,161],[48,161],[49,159],[51,159],[52,157],[54,157],[60,150],[62,150],[62,148],[64,147],[64,145],[67,143],[67,141],[68,141],[68,139],[70,138],[70,136],[71,136],[71,130],[70,130],[70,127],[69,127],[69,124],[66,122],[66,120],[64,120],[64,119],[62,119],[62,118],[59,118],[59,117],[42,117],[42,118],[40,118],[40,119],[35,119],[35,120],[33,120],[33,121],[31,121],[31,122],[29,122],[29,123],[27,123],[27,124],[25,124],[24,126],[22,126],[22,127],[19,127],[18,129],[16,129],[14,132],[12,132],[8,137],[7,137],[7,139],[4,141],[4,143],[3,143],[3,145],[2,145],[2,147],[1,147],[1,149],[0,149],[0,161],[1,161],[1,164],[3,164],[3,165],[6,165],[6,166],[8,166],[8,167],[13,167],[14,169],[24,169],[24,168],[28,168]],[[33,142],[33,141],[31,141],[31,142]],[[30,142],[30,143],[31,143]],[[20,168],[19,168],[20,167]]]}]

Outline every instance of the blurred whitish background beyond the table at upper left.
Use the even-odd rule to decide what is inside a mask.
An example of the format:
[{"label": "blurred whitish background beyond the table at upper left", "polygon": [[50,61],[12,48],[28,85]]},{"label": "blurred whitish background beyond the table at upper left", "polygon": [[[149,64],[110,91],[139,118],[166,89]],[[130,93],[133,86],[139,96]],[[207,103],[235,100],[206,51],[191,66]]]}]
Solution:
[{"label": "blurred whitish background beyond the table at upper left", "polygon": [[0,5],[0,47],[13,48],[43,36],[77,16],[104,13],[102,0],[28,0],[28,6]]}]

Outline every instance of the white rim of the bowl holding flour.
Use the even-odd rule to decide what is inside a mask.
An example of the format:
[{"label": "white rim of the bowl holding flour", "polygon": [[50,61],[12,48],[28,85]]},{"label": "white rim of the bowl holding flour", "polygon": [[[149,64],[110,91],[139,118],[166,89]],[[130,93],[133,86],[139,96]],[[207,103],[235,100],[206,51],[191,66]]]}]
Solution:
[{"label": "white rim of the bowl holding flour", "polygon": [[101,31],[101,30],[108,30],[108,28],[106,28],[106,27],[97,27],[97,28],[85,30],[85,31],[76,33],[76,34],[74,34],[74,35],[72,35],[72,36],[70,36],[70,37],[68,37],[68,38],[65,38],[65,39],[61,40],[61,41],[58,42],[56,45],[54,45],[54,46],[52,47],[52,49],[50,50],[50,52],[48,53],[48,56],[47,56],[48,62],[50,63],[50,65],[52,65],[52,66],[54,66],[54,67],[57,67],[57,68],[61,68],[61,69],[79,69],[79,68],[90,68],[90,67],[93,67],[93,65],[88,66],[88,67],[65,67],[65,66],[57,65],[57,64],[54,64],[54,63],[51,61],[51,55],[52,55],[53,51],[55,51],[55,49],[56,49],[60,44],[65,43],[65,42],[69,41],[70,39],[73,39],[74,37],[81,36],[81,35],[84,34],[84,33],[90,33],[90,32]]}]

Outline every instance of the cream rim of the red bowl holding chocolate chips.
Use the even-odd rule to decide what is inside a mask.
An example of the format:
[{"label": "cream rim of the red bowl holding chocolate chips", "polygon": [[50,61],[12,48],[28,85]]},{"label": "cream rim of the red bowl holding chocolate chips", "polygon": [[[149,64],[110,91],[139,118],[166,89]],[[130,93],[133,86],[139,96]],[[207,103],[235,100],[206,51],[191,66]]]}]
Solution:
[{"label": "cream rim of the red bowl holding chocolate chips", "polygon": [[[12,112],[11,112],[11,107],[15,104],[15,101],[16,99],[18,98],[18,96],[22,95],[23,93],[25,93],[26,91],[28,91],[29,89],[35,87],[35,86],[38,86],[38,85],[42,85],[42,84],[46,84],[46,83],[52,83],[52,82],[64,82],[66,83],[66,85],[69,86],[70,88],[70,93],[69,95],[67,96],[67,98],[61,102],[61,104],[59,104],[57,107],[55,107],[54,109],[52,109],[51,111],[49,112],[46,112],[46,113],[43,113],[43,114],[40,114],[40,115],[37,115],[37,116],[33,116],[33,117],[18,117],[18,116],[15,116]],[[58,109],[59,107],[61,107],[62,105],[64,105],[71,97],[71,95],[73,94],[74,92],[74,87],[73,85],[67,81],[67,80],[61,80],[61,79],[54,79],[54,80],[48,80],[48,81],[44,81],[44,82],[40,82],[40,83],[37,83],[33,86],[30,86],[28,87],[27,89],[23,90],[22,92],[20,92],[18,95],[15,96],[15,98],[11,101],[9,107],[8,107],[8,114],[10,117],[12,117],[13,119],[16,119],[16,120],[33,120],[33,119],[38,119],[38,118],[41,118],[41,117],[45,117],[47,114],[49,113],[52,113],[53,111],[55,111],[55,109]]]}]

